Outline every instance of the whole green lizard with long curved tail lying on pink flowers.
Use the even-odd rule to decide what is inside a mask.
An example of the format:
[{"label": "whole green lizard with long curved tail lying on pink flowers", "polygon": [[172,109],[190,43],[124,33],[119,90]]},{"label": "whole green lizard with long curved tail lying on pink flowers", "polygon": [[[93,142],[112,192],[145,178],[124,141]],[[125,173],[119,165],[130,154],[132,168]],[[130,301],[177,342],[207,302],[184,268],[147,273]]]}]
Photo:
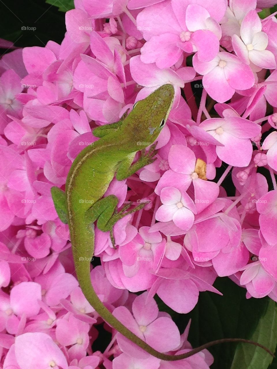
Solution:
[{"label": "whole green lizard with long curved tail lying on pink flowers", "polygon": [[[154,161],[155,145],[148,152],[145,147],[154,144],[170,113],[174,99],[172,85],[164,85],[146,99],[138,101],[126,117],[117,123],[98,127],[93,131],[101,137],[87,146],[74,160],[69,170],[65,192],[52,187],[55,208],[62,222],[69,224],[76,275],[83,294],[97,313],[114,329],[129,338],[149,354],[166,361],[188,358],[209,346],[227,341],[256,342],[243,339],[220,339],[209,342],[182,355],[167,355],[156,351],[126,328],[103,305],[90,280],[90,259],[94,251],[94,224],[102,231],[110,231],[114,245],[113,225],[127,214],[144,207],[140,204],[131,210],[128,204],[117,213],[118,199],[114,195],[103,197],[114,175],[123,180],[143,166]],[[138,151],[141,156],[134,164]],[[128,210],[128,211],[126,211]],[[184,297],[185,298],[185,297]],[[263,347],[263,346],[261,346]],[[266,351],[268,351],[266,349]]]}]

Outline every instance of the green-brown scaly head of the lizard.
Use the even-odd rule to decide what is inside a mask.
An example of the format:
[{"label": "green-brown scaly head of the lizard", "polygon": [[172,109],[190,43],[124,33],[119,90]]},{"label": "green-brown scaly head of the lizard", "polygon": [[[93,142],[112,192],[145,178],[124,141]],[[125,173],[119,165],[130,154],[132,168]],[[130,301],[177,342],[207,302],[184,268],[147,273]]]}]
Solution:
[{"label": "green-brown scaly head of the lizard", "polygon": [[[123,122],[124,130],[133,137],[134,151],[145,148],[156,141],[167,121],[174,99],[174,87],[163,85],[145,99],[137,101]],[[130,143],[130,141],[129,141]]]}]

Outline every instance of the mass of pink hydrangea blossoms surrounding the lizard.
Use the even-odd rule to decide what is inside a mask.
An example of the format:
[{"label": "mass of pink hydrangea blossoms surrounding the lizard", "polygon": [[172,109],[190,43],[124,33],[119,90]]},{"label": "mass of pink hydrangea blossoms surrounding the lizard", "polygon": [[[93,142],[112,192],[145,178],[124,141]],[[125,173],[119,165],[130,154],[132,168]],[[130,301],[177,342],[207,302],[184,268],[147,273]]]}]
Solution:
[{"label": "mass of pink hydrangea blossoms surrounding the lizard", "polygon": [[[109,232],[96,229],[102,265],[91,280],[99,298],[140,338],[171,354],[191,349],[189,326],[180,335],[158,311],[155,294],[185,314],[199,292],[221,294],[213,282],[229,276],[247,298],[277,301],[277,21],[257,14],[273,4],[75,0],[61,45],[3,56],[1,367],[212,364],[208,351],[182,363],[160,361],[107,325],[112,341],[104,352],[92,351],[103,321],[78,286],[68,226],[50,194],[52,186],[64,190],[73,160],[98,139],[92,128],[119,121],[165,83],[175,98],[157,160],[107,190],[120,206],[146,206],[115,225],[116,249]],[[223,174],[215,180],[217,168]],[[230,176],[235,196],[222,186]]]}]

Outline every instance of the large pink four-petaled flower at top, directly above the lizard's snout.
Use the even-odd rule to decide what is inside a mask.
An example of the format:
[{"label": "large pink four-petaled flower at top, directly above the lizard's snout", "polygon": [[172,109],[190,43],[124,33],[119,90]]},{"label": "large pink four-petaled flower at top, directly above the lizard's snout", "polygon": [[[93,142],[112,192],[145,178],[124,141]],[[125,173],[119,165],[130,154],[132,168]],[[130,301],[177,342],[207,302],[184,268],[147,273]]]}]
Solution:
[{"label": "large pink four-petaled flower at top, directly above the lizard's snout", "polygon": [[[142,62],[156,63],[158,68],[163,69],[174,65],[184,51],[197,52],[201,61],[209,61],[218,54],[221,30],[208,10],[198,4],[189,4],[185,11],[180,11],[180,6],[178,1],[172,4],[165,2],[148,7],[138,14],[138,29],[147,30],[145,25],[151,24],[148,27],[150,31],[143,32],[147,42],[141,48]],[[163,21],[160,29],[155,24],[155,30],[151,32],[157,14]],[[174,28],[171,27],[173,23],[176,24]]]}]

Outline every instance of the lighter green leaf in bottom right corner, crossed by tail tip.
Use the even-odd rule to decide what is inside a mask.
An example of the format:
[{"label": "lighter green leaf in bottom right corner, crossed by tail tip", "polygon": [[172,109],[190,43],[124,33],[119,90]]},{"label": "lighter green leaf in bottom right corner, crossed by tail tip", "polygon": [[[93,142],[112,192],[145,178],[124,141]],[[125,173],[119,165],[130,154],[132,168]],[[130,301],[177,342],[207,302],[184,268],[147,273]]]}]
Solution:
[{"label": "lighter green leaf in bottom right corner, crossed by tail tip", "polygon": [[[273,300],[269,300],[265,314],[263,314],[251,336],[252,341],[275,351],[277,344],[277,308]],[[237,345],[235,356],[230,369],[267,369],[273,358],[263,349],[249,344]]]}]

